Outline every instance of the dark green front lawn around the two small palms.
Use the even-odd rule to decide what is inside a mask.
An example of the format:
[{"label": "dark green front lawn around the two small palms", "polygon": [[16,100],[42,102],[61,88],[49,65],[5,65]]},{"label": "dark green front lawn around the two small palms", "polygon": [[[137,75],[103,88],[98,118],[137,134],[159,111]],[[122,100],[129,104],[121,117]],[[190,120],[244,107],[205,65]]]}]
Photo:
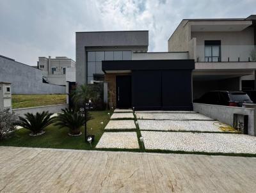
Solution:
[{"label": "dark green front lawn around the two small palms", "polygon": [[[95,141],[92,143],[95,148],[101,135],[103,134],[101,121],[104,121],[104,126],[109,121],[108,112],[110,111],[92,111],[93,120],[88,121],[88,133],[95,135]],[[92,130],[90,129],[92,128]],[[82,128],[83,135],[79,137],[68,136],[68,128],[58,128],[54,125],[49,125],[45,128],[45,134],[37,137],[29,136],[30,131],[24,128],[17,130],[13,137],[0,141],[0,146],[20,146],[33,148],[63,148],[89,150],[90,144],[84,143],[84,127]]]}]

